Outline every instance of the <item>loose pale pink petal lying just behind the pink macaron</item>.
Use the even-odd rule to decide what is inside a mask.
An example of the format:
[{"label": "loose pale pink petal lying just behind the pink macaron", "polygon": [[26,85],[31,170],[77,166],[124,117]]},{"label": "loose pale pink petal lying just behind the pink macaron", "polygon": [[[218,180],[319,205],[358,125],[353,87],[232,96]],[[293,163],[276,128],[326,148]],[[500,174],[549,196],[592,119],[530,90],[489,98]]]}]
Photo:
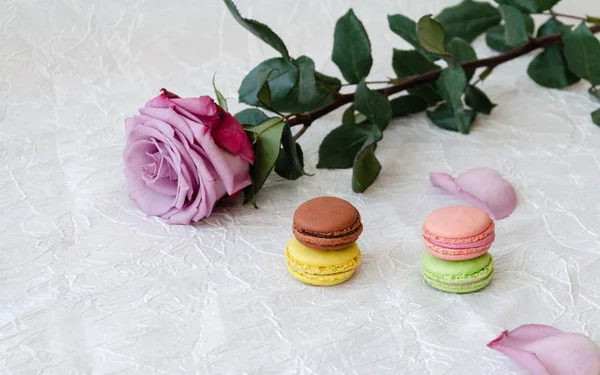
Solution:
[{"label": "loose pale pink petal lying just behind the pink macaron", "polygon": [[515,188],[490,168],[474,168],[456,179],[447,173],[430,173],[429,180],[433,186],[485,210],[493,219],[507,217],[517,205]]}]

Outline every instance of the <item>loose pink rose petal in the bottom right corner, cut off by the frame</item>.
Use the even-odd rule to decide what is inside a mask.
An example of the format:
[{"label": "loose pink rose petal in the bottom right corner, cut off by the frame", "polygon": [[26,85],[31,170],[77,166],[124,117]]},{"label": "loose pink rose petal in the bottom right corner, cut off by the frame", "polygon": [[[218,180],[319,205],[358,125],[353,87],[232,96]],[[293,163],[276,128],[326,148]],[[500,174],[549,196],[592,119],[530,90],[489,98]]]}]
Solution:
[{"label": "loose pink rose petal in the bottom right corner, cut off by the frame", "polygon": [[600,348],[588,337],[527,324],[504,331],[487,345],[534,375],[598,375]]}]

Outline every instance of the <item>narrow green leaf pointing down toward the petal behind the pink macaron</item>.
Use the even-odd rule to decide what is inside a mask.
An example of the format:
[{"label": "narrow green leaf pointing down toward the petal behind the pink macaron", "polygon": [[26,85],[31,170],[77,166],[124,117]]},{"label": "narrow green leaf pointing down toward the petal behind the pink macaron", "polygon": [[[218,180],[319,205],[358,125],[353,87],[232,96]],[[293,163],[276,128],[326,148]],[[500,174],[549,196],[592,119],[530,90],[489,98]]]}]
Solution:
[{"label": "narrow green leaf pointing down toward the petal behind the pink macaron", "polygon": [[468,121],[462,101],[462,94],[467,87],[467,76],[462,66],[455,61],[450,61],[437,83],[442,97],[454,112],[458,131],[468,134],[471,123]]}]

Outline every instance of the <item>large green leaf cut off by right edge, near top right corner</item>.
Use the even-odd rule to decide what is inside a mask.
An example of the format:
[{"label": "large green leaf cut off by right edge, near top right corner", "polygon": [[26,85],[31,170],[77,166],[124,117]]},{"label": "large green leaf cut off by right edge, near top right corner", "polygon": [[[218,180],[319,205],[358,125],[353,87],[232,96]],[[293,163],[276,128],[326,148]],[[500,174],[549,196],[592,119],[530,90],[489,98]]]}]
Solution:
[{"label": "large green leaf cut off by right edge, near top right corner", "polygon": [[564,38],[565,57],[569,70],[589,81],[600,84],[600,41],[582,22]]}]

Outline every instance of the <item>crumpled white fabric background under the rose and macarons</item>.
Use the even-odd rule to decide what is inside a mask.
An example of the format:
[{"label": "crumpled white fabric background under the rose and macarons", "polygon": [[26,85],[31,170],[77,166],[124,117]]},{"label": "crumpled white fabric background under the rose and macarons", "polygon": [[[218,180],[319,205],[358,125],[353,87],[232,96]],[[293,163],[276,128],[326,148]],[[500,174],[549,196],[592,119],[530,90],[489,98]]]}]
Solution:
[{"label": "crumpled white fabric background under the rose and macarons", "polygon": [[[335,21],[352,6],[373,44],[372,79],[393,76],[408,45],[387,14],[437,14],[454,0],[251,1],[292,56],[330,61]],[[600,3],[557,10],[600,15]],[[545,17],[537,18],[538,24]],[[493,52],[482,38],[480,57]],[[362,195],[350,170],[316,170],[338,111],[302,138],[313,177],[273,176],[259,210],[228,205],[168,226],[128,199],[123,118],[166,87],[231,98],[276,52],[219,1],[4,0],[0,4],[0,373],[522,374],[485,347],[502,330],[553,325],[600,341],[600,107],[526,75],[533,54],[482,85],[499,106],[464,136],[423,114],[395,120],[377,149],[383,171]],[[497,223],[496,275],[470,295],[419,274],[420,225],[460,203],[427,173],[499,170],[519,197]],[[349,282],[293,279],[283,249],[294,209],[336,195],[360,210],[364,263]]]}]

